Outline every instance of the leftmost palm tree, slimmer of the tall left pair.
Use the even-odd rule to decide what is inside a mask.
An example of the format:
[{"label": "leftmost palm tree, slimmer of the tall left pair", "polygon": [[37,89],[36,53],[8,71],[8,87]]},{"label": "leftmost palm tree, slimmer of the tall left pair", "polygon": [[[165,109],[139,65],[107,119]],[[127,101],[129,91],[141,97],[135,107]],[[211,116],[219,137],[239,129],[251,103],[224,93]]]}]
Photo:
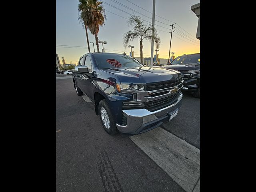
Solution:
[{"label": "leftmost palm tree, slimmer of the tall left pair", "polygon": [[85,28],[87,45],[90,53],[90,44],[89,44],[88,32],[87,32],[87,27],[90,22],[90,10],[88,7],[87,0],[79,0],[79,2],[80,4],[78,4],[78,14],[79,14],[78,19],[82,22],[82,25]]}]

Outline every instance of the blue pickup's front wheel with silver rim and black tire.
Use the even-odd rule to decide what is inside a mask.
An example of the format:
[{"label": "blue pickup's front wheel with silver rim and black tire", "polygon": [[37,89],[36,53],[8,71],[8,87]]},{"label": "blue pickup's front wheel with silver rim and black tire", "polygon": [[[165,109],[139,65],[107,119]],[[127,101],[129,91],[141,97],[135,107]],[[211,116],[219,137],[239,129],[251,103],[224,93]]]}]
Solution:
[{"label": "blue pickup's front wheel with silver rim and black tire", "polygon": [[[117,134],[118,130],[116,128],[116,122],[112,116],[112,113],[110,112],[110,107],[105,99],[103,99],[99,102],[98,109],[99,109],[99,114],[100,114],[100,121],[102,123],[104,130],[110,135]],[[104,116],[105,116],[106,121],[104,121],[102,119],[102,118],[104,118]]]}]

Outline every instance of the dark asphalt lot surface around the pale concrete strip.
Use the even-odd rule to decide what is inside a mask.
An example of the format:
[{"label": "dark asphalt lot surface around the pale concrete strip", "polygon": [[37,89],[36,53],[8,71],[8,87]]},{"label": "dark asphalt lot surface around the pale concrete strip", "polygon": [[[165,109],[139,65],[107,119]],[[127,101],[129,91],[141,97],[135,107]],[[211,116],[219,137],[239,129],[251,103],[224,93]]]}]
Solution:
[{"label": "dark asphalt lot surface around the pale concrete strip", "polygon": [[[178,115],[162,127],[200,149],[200,99],[185,92]],[[71,76],[56,78],[56,191],[200,191],[200,176],[186,188],[156,161],[136,137],[106,134]]]}]

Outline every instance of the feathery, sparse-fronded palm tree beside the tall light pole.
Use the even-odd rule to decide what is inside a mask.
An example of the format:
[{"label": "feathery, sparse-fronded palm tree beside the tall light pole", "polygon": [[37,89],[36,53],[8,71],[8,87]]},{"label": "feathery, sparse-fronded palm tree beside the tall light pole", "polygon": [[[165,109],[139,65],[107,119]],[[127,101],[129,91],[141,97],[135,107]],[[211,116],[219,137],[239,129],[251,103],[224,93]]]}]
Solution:
[{"label": "feathery, sparse-fronded palm tree beside the tall light pole", "polygon": [[[142,63],[143,40],[145,39],[145,40],[151,41],[153,38],[154,43],[156,44],[156,49],[158,49],[160,46],[160,38],[157,35],[156,28],[154,28],[150,24],[144,25],[141,17],[136,16],[135,14],[129,17],[127,23],[129,26],[133,26],[133,29],[124,34],[124,38],[123,38],[124,48],[127,47],[129,42],[131,42],[135,38],[138,38],[140,40],[140,62]],[[153,33],[154,35],[152,35],[152,30],[154,30],[154,33]]]}]

